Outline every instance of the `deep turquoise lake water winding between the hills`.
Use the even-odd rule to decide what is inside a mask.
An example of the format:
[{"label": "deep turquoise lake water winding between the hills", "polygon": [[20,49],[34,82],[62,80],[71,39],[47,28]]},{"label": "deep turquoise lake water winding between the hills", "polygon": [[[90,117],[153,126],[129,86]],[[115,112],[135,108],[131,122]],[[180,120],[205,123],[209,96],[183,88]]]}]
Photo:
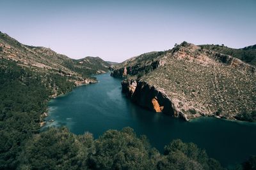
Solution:
[{"label": "deep turquoise lake water winding between the hills", "polygon": [[132,127],[147,135],[152,146],[163,152],[173,139],[193,142],[210,157],[227,166],[256,155],[256,124],[216,118],[198,118],[184,122],[163,113],[144,110],[131,103],[121,92],[121,80],[102,74],[99,83],[78,87],[49,102],[45,127],[65,125],[75,134],[88,131],[97,138],[108,129]]}]

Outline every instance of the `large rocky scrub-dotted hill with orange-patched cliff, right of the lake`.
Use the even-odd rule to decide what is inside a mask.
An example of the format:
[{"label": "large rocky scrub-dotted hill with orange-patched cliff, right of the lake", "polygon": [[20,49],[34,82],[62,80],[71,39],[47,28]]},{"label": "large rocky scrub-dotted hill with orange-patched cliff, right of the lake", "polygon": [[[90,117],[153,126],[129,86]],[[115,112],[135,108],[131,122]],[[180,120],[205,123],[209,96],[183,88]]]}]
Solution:
[{"label": "large rocky scrub-dotted hill with orange-patched cliff, right of the lake", "polygon": [[112,76],[125,78],[123,92],[149,110],[186,120],[256,120],[256,67],[231,55],[183,42],[114,69]]}]

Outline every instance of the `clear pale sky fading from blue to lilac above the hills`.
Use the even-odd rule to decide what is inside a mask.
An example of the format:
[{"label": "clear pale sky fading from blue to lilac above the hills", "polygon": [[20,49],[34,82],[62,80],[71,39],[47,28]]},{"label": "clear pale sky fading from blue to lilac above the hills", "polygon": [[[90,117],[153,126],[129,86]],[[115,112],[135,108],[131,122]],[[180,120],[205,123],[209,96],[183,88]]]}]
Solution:
[{"label": "clear pale sky fading from blue to lilac above the hills", "polygon": [[72,59],[122,62],[187,41],[256,44],[256,0],[0,0],[0,31]]}]

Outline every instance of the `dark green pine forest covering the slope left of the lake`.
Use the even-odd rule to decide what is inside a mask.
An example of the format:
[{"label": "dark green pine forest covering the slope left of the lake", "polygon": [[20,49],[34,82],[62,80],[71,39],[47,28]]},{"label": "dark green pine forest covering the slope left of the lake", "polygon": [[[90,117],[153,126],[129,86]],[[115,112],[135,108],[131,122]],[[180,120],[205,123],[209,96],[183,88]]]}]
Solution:
[{"label": "dark green pine forest covering the slope left of the lake", "polygon": [[0,60],[0,169],[14,169],[27,139],[40,130],[40,115],[49,96],[72,90],[72,83],[59,74],[51,76]]}]

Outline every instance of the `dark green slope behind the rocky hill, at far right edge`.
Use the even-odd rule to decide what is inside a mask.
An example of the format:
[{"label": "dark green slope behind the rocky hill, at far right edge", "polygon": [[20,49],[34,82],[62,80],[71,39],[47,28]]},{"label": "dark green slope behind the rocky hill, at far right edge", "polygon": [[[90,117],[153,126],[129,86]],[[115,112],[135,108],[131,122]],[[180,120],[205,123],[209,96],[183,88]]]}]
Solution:
[{"label": "dark green slope behind the rocky hill, at far right edge", "polygon": [[252,64],[256,66],[256,45],[246,46],[240,49],[228,48],[224,45],[200,45],[202,48],[207,50],[213,50],[214,52],[220,52],[227,55],[232,55],[238,59],[243,60],[244,62],[248,62],[248,64]]}]

